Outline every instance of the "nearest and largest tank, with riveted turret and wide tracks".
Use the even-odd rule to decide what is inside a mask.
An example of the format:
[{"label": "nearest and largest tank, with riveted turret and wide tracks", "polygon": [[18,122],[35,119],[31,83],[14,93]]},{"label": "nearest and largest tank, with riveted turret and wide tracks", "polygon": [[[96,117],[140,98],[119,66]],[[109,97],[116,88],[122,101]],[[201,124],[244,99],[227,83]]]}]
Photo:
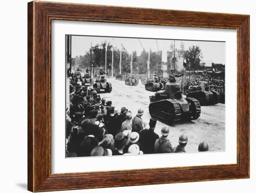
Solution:
[{"label": "nearest and largest tank, with riveted turret and wide tracks", "polygon": [[163,123],[179,120],[196,120],[200,117],[201,106],[192,97],[182,98],[182,91],[176,82],[168,82],[165,90],[149,97],[149,114]]}]

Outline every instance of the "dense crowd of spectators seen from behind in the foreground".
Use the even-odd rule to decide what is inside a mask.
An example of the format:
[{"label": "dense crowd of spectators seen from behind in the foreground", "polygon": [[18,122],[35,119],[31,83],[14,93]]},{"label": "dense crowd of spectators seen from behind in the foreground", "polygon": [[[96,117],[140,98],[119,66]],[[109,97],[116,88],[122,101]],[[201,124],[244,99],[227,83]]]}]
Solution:
[{"label": "dense crowd of spectators seen from behind in the foreground", "polygon": [[[92,88],[77,84],[70,77],[70,101],[66,112],[66,157],[184,153],[188,136],[181,134],[178,144],[168,140],[169,126],[155,133],[157,120],[143,121],[144,110],[134,112],[112,106]],[[202,142],[198,151],[208,151]]]}]

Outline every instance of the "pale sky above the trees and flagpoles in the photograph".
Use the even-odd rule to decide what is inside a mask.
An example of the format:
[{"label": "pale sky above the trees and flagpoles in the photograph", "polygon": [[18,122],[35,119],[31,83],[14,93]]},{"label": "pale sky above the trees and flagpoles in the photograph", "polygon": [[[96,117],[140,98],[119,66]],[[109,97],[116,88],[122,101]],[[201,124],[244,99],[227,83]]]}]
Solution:
[{"label": "pale sky above the trees and flagpoles in the photograph", "polygon": [[[138,55],[142,52],[143,48],[146,51],[151,49],[153,52],[157,51],[157,44],[159,50],[170,50],[171,43],[174,44],[174,40],[162,40],[162,39],[143,39],[143,38],[117,38],[117,37],[96,37],[96,36],[72,36],[72,57],[84,55],[89,51],[92,46],[100,44],[101,42],[111,42],[114,47],[121,49],[121,44],[125,49],[131,53],[136,51]],[[141,43],[140,43],[141,41]],[[215,41],[195,41],[195,40],[175,40],[175,49],[180,49],[183,42],[185,50],[188,50],[190,46],[199,46],[202,52],[202,60],[211,60],[214,63],[225,64],[225,42]],[[142,46],[141,46],[142,44]]]}]

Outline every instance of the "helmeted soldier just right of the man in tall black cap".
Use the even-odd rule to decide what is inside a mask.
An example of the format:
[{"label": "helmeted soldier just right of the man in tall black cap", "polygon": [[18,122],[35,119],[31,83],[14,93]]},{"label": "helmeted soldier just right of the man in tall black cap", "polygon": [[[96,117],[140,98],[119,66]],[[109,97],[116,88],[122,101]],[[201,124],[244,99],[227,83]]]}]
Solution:
[{"label": "helmeted soldier just right of the man in tall black cap", "polygon": [[169,127],[163,126],[161,129],[162,136],[155,140],[155,153],[172,153],[173,147],[170,140],[167,139]]}]

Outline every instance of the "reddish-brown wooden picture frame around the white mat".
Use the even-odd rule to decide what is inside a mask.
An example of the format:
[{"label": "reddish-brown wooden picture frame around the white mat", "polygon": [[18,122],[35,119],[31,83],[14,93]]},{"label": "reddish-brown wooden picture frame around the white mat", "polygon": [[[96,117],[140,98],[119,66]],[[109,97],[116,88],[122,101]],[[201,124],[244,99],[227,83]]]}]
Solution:
[{"label": "reddish-brown wooden picture frame around the white mat", "polygon": [[[237,164],[51,173],[51,21],[237,30]],[[249,178],[249,15],[28,3],[28,190],[32,192]]]}]

